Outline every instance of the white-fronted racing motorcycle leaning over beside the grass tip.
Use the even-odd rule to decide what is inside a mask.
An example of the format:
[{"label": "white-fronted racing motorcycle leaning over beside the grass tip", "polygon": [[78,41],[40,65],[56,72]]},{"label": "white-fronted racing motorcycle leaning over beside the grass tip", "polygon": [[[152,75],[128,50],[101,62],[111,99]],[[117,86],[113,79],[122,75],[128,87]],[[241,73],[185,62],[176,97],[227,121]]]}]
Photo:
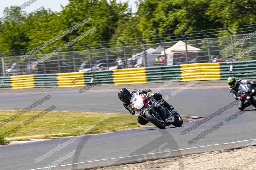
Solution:
[{"label": "white-fronted racing motorcycle leaning over beside the grass tip", "polygon": [[[145,94],[136,92],[132,95],[130,102],[132,103],[131,107],[138,111],[139,115],[160,129],[171,124],[175,127],[180,127],[183,124],[183,120],[176,110],[168,110],[163,106],[163,102],[157,101],[150,94],[145,96]],[[163,112],[166,112],[165,121]]]}]

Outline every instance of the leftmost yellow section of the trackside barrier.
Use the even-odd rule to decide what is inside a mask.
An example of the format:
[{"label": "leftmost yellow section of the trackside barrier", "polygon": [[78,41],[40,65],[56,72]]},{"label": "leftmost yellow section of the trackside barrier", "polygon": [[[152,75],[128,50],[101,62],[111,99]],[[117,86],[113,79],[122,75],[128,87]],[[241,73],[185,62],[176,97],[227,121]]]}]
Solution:
[{"label": "leftmost yellow section of the trackside barrier", "polygon": [[34,75],[11,76],[12,89],[34,88]]}]

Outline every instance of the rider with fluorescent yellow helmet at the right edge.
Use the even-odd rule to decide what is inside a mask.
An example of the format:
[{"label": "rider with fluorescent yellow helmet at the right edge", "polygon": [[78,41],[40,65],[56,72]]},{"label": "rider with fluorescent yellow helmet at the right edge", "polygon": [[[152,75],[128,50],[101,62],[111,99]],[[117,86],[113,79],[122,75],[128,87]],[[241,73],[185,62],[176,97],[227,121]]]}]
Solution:
[{"label": "rider with fluorescent yellow helmet at the right edge", "polygon": [[253,84],[255,86],[255,81],[248,81],[248,80],[237,80],[235,77],[229,77],[228,78],[228,84],[230,85],[230,93],[233,95],[233,97],[238,100],[239,102],[239,110],[244,110],[246,107],[250,106],[248,102],[245,102],[243,98],[240,97],[240,95],[237,93],[238,88],[243,83]]}]

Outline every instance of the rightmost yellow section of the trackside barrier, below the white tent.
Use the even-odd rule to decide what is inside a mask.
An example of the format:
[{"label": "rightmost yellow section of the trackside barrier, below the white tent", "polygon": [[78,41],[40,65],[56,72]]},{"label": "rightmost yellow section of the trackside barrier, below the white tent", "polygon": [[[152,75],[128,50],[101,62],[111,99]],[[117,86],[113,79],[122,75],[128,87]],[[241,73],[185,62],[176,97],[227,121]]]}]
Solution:
[{"label": "rightmost yellow section of the trackside barrier, below the white tent", "polygon": [[220,80],[220,63],[181,64],[181,81]]}]

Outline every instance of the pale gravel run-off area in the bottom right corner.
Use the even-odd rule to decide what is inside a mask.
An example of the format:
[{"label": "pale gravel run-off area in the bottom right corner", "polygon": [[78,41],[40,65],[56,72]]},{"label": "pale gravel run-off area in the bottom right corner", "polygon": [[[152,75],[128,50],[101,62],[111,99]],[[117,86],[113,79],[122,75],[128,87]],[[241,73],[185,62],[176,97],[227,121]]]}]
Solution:
[{"label": "pale gravel run-off area in the bottom right corner", "polygon": [[[256,146],[96,168],[94,170],[255,170]],[[180,167],[184,162],[184,167]]]}]

